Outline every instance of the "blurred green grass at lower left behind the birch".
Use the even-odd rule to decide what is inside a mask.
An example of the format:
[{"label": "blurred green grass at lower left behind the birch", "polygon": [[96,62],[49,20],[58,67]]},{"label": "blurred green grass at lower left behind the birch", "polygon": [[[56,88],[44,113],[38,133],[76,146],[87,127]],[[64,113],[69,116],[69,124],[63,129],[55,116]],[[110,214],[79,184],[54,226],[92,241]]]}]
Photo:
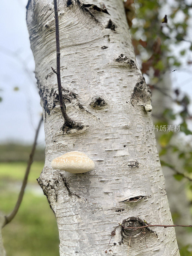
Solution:
[{"label": "blurred green grass at lower left behind the birch", "polygon": [[[0,211],[13,209],[26,163],[0,164]],[[16,217],[3,228],[7,256],[58,256],[59,235],[54,213],[38,185],[44,162],[34,162],[29,183]]]}]

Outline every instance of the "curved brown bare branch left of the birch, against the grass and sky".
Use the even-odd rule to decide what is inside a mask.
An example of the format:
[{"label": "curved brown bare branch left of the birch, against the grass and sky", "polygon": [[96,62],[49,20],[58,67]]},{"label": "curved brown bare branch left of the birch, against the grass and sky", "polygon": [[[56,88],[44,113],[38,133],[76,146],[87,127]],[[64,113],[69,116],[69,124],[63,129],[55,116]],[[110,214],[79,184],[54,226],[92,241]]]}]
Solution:
[{"label": "curved brown bare branch left of the birch, against the grass and sky", "polygon": [[22,183],[22,186],[21,186],[21,190],[20,190],[17,202],[16,202],[15,207],[12,210],[12,212],[9,213],[7,216],[5,216],[4,226],[6,224],[8,224],[10,221],[12,221],[12,219],[17,214],[17,212],[19,210],[19,207],[20,207],[20,204],[22,202],[24,191],[25,191],[25,188],[26,188],[26,185],[27,185],[27,180],[28,180],[28,175],[29,175],[29,172],[30,172],[31,164],[33,163],[33,157],[34,157],[34,154],[35,154],[37,138],[38,138],[38,134],[39,134],[39,130],[40,130],[42,121],[43,121],[43,115],[41,116],[41,119],[40,119],[40,121],[38,123],[38,126],[37,126],[37,129],[36,129],[35,138],[34,138],[34,142],[33,142],[33,147],[31,149],[31,153],[29,155],[28,164],[27,164],[27,168],[26,168],[26,171],[25,171],[25,176],[24,176],[24,179],[23,179],[23,183]]}]

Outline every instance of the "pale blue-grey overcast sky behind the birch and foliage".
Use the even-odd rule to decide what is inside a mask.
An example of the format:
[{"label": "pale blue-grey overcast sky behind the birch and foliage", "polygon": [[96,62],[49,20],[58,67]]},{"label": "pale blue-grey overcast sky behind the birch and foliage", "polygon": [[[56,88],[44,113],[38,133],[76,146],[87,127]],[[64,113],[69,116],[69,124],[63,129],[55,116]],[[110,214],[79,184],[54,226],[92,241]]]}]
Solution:
[{"label": "pale blue-grey overcast sky behind the birch and foliage", "polygon": [[[0,10],[0,143],[19,141],[31,143],[34,138],[42,108],[35,85],[35,76],[26,75],[20,61],[12,55],[16,52],[29,70],[34,71],[34,60],[30,49],[26,25],[27,0],[1,1]],[[192,40],[192,39],[191,39]],[[180,46],[182,49],[185,44]],[[174,51],[178,51],[174,48]],[[188,59],[192,56],[188,56]],[[24,64],[25,66],[25,64]],[[188,92],[192,99],[192,67],[172,72],[173,87]],[[19,91],[14,91],[19,87]],[[44,130],[41,129],[39,143],[44,145]]]}]

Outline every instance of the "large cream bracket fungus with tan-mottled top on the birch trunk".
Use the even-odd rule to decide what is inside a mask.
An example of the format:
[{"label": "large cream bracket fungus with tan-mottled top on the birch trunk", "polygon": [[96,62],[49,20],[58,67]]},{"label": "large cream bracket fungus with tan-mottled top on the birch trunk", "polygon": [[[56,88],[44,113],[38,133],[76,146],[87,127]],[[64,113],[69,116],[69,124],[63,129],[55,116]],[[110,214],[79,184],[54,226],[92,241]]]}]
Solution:
[{"label": "large cream bracket fungus with tan-mottled top on the birch trunk", "polygon": [[84,153],[70,151],[52,160],[53,169],[63,170],[71,173],[83,173],[92,171],[95,167],[94,162]]}]

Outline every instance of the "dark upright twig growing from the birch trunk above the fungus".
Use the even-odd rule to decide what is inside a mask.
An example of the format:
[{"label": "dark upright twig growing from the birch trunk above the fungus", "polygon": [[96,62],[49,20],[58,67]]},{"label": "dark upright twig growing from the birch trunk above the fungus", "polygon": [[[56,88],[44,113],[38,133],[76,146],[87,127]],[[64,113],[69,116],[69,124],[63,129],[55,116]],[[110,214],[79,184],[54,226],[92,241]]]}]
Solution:
[{"label": "dark upright twig growing from the birch trunk above the fungus", "polygon": [[81,124],[76,124],[66,113],[66,106],[63,101],[63,93],[62,93],[62,86],[61,86],[61,76],[60,76],[60,37],[59,37],[59,15],[58,15],[58,4],[57,0],[54,0],[54,12],[55,12],[55,37],[56,37],[56,52],[57,52],[57,70],[55,71],[52,68],[53,72],[57,75],[57,85],[58,85],[58,92],[59,92],[59,102],[61,113],[64,117],[65,124],[68,127],[79,128],[82,129],[83,126]]}]

